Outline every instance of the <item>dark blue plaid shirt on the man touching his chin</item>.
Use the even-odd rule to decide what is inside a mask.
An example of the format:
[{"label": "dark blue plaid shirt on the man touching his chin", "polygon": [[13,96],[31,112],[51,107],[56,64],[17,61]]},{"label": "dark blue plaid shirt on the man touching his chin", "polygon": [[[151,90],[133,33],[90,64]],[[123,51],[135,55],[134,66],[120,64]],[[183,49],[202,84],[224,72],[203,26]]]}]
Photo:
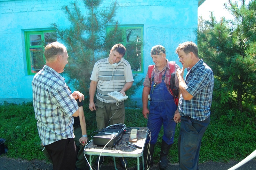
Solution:
[{"label": "dark blue plaid shirt on the man touching his chin", "polygon": [[186,75],[184,87],[193,96],[190,100],[179,99],[179,112],[181,116],[189,116],[195,120],[203,121],[210,116],[212,105],[212,91],[214,77],[212,69],[200,59]]}]

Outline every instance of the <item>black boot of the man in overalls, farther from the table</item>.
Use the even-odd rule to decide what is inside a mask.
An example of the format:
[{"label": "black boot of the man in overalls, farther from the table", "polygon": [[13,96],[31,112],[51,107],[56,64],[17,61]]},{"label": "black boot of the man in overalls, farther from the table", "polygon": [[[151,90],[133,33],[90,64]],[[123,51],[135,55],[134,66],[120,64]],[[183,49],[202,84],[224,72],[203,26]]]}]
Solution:
[{"label": "black boot of the man in overalls, farther from the table", "polygon": [[163,170],[167,168],[168,165],[168,153],[171,148],[172,144],[168,145],[167,143],[162,140],[162,145],[161,145],[161,151],[160,151],[160,162],[159,162],[159,169]]}]

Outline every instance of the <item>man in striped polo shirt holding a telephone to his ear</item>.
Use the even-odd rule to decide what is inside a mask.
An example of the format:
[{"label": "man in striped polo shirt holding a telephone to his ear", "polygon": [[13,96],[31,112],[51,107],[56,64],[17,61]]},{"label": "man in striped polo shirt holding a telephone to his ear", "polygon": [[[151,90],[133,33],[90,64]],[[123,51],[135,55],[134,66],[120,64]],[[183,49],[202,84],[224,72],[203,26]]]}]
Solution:
[{"label": "man in striped polo shirt holding a telephone to his ear", "polygon": [[[90,83],[89,109],[96,111],[97,128],[124,123],[124,101],[118,103],[108,96],[108,93],[118,91],[125,95],[125,91],[132,87],[132,69],[124,59],[126,49],[122,44],[116,44],[110,50],[108,58],[97,61],[93,67]],[[96,103],[94,94],[96,92]],[[100,161],[101,162],[101,161]],[[123,159],[122,166],[125,168]],[[127,162],[126,162],[127,165]]]}]

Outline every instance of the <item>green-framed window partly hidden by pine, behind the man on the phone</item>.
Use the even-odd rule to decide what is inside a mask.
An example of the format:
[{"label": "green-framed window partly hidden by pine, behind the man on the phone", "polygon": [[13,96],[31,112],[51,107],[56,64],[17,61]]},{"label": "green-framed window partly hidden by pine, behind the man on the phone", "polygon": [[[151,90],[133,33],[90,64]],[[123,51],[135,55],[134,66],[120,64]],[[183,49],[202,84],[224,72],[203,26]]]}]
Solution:
[{"label": "green-framed window partly hidden by pine, behind the man on the phone", "polygon": [[[107,33],[111,32],[113,27],[107,27]],[[133,73],[143,73],[143,26],[119,26],[122,30],[123,38],[119,43],[126,48],[126,59]]]}]

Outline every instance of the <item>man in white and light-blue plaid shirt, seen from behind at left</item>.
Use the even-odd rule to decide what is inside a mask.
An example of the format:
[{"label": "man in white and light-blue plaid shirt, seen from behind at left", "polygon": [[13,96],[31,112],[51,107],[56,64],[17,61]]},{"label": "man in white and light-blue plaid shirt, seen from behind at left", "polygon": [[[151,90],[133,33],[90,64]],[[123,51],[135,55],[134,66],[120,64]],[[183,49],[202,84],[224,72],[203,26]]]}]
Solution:
[{"label": "man in white and light-blue plaid shirt, seen from behind at left", "polygon": [[59,73],[68,63],[66,47],[58,42],[45,46],[46,64],[32,81],[33,106],[39,137],[49,153],[53,169],[75,169],[76,147],[73,133],[73,116],[79,115],[76,99],[84,95],[72,94]]}]

